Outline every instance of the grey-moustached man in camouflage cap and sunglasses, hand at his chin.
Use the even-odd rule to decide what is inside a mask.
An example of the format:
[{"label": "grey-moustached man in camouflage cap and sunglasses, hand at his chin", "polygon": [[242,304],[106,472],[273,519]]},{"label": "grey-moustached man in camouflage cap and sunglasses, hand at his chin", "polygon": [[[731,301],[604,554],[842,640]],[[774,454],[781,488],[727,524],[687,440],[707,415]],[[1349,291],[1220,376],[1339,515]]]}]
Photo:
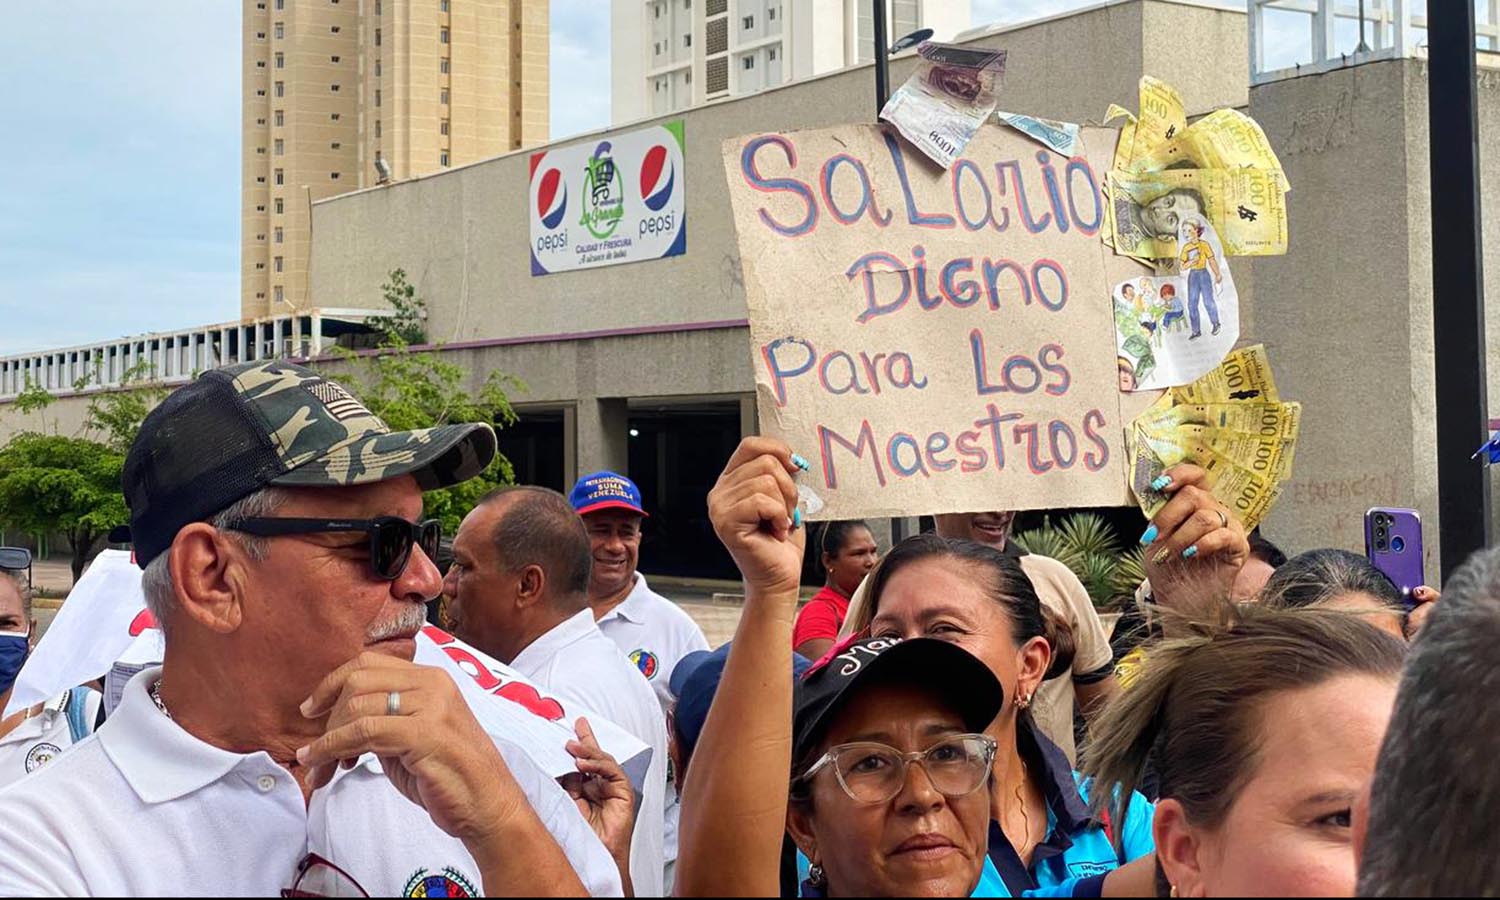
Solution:
[{"label": "grey-moustached man in camouflage cap and sunglasses, hand at his chin", "polygon": [[286,363],[218,369],[141,426],[123,484],[165,662],[0,790],[0,896],[620,892],[573,801],[411,662],[441,588],[422,490],[484,424],[392,432]]}]

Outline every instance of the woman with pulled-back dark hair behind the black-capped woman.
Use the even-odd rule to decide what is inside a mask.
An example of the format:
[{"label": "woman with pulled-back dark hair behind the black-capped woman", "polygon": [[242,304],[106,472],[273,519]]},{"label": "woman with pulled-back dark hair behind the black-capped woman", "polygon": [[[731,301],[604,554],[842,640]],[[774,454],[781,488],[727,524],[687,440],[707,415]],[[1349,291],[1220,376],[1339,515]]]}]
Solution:
[{"label": "woman with pulled-back dark hair behind the black-capped woman", "polygon": [[1124,822],[1095,818],[1088,784],[1032,722],[1036,688],[1068,672],[1071,639],[1014,558],[934,534],[908,538],[872,576],[870,609],[873,638],[957,644],[990,666],[1011,699],[986,729],[1000,747],[988,858],[1010,896],[1080,890],[1077,879],[1095,882],[1155,849],[1150,804],[1136,798]]}]

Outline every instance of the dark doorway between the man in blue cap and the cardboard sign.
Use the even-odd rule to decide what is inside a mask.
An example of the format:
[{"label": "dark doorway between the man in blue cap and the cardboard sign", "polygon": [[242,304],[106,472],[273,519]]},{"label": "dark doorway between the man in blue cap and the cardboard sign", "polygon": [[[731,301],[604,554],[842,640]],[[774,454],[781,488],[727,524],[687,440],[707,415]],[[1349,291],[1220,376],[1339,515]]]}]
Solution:
[{"label": "dark doorway between the man in blue cap and the cardboard sign", "polygon": [[651,513],[640,568],[740,578],[708,524],[708,492],[738,442],[738,402],[630,410],[630,478]]}]

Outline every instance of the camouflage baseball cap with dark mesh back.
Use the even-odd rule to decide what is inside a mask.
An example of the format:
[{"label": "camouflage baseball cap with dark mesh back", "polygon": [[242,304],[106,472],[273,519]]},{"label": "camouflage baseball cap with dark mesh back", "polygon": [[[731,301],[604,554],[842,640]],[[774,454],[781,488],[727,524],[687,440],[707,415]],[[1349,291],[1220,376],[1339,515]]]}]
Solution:
[{"label": "camouflage baseball cap with dark mesh back", "polygon": [[334,381],[280,362],[213,369],[141,423],[124,459],[135,560],[177,531],[268,486],[338,488],[414,476],[423,490],[472,478],[495,459],[483,423],[393,432]]}]

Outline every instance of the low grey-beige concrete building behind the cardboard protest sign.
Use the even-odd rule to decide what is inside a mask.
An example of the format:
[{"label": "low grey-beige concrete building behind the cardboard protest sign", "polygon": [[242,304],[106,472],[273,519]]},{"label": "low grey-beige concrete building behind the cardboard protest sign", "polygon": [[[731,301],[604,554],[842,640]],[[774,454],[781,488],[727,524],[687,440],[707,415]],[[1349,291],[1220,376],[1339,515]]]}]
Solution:
[{"label": "low grey-beige concrete building behind the cardboard protest sign", "polygon": [[[1266,532],[1288,550],[1359,550],[1368,507],[1408,506],[1425,519],[1436,573],[1431,369],[1442,334],[1425,62],[1371,56],[1252,84],[1250,32],[1242,10],[1120,0],[972,44],[1010,51],[1002,102],[1017,112],[1096,122],[1110,102],[1134,105],[1138,78],[1155,75],[1182,90],[1190,116],[1236,106],[1262,123],[1292,183],[1292,243],[1286,256],[1232,260],[1242,342],[1268,345],[1281,393],[1305,406],[1296,471]],[[1488,153],[1500,146],[1500,57],[1479,60],[1482,206],[1486,232],[1500,234],[1500,154]],[[892,81],[912,64],[896,60]],[[678,554],[672,564],[694,572],[717,552],[704,495],[740,435],[756,430],[722,142],[866,120],[870,93],[870,68],[852,66],[672,116],[684,120],[690,234],[684,255],[650,262],[532,278],[526,153],[322,200],[312,206],[312,298],[369,308],[388,272],[405,268],[428,300],[428,333],[474,387],[492,370],[525,382],[513,394],[520,423],[502,432],[520,477],[566,486],[598,468],[628,472],[664,537],[648,555]],[[1485,252],[1490,390],[1500,396],[1500,242]],[[27,428],[6,406],[15,378],[3,378],[21,363],[0,360],[0,440]],[[84,402],[64,398],[48,416],[81,418],[70,410]]]}]

